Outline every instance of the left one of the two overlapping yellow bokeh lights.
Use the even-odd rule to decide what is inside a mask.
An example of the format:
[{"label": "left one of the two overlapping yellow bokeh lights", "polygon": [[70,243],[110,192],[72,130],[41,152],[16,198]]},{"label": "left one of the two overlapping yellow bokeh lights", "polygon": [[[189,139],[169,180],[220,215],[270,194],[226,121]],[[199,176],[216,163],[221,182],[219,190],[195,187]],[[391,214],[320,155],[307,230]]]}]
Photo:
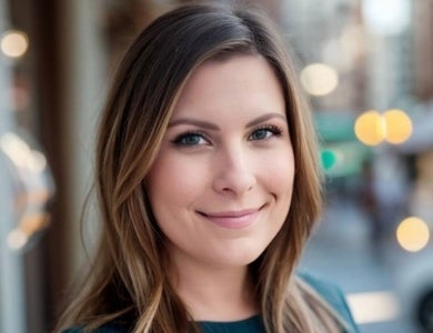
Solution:
[{"label": "left one of the two overlapping yellow bokeh lights", "polygon": [[356,119],[354,130],[361,142],[367,145],[376,145],[385,138],[386,124],[377,111],[370,110]]}]

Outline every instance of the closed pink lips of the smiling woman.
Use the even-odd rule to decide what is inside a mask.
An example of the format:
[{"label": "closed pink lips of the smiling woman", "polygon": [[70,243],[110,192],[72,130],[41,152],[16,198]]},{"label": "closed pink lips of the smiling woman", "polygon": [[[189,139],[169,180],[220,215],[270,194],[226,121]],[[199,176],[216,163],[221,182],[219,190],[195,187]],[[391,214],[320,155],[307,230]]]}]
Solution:
[{"label": "closed pink lips of the smiling woman", "polygon": [[199,212],[200,215],[205,218],[208,221],[226,229],[241,229],[254,223],[260,209],[249,209],[242,211],[229,211],[218,213],[203,213]]}]

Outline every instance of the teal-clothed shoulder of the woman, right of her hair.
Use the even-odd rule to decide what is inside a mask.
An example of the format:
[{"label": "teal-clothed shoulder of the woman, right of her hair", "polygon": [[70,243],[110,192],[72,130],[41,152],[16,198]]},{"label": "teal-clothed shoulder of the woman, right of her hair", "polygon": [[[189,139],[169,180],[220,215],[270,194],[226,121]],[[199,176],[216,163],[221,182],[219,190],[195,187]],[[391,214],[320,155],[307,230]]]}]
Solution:
[{"label": "teal-clothed shoulder of the woman, right of her hair", "polygon": [[298,276],[310,285],[346,323],[349,332],[359,332],[352,311],[340,286],[309,272],[299,272]]}]

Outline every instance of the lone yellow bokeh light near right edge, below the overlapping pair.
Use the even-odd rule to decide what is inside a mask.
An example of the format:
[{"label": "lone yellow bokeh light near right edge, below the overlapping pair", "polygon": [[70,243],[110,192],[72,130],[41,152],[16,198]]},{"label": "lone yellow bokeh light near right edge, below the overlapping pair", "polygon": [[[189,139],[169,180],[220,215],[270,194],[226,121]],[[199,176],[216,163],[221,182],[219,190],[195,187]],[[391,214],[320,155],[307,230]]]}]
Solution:
[{"label": "lone yellow bokeh light near right edge, below the overlapping pair", "polygon": [[396,239],[404,250],[417,252],[429,243],[430,230],[423,220],[411,216],[399,224]]}]

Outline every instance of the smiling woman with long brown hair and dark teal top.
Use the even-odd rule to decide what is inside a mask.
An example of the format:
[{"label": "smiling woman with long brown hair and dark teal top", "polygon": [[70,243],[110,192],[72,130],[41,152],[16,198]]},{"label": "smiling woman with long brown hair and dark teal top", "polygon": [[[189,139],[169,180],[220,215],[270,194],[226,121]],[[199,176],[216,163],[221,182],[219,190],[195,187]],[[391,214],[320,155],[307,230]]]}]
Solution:
[{"label": "smiling woman with long brown hair and dark teal top", "polygon": [[98,141],[100,246],[60,326],[356,332],[338,289],[295,273],[321,175],[269,19],[175,9],[135,39],[113,82]]}]

